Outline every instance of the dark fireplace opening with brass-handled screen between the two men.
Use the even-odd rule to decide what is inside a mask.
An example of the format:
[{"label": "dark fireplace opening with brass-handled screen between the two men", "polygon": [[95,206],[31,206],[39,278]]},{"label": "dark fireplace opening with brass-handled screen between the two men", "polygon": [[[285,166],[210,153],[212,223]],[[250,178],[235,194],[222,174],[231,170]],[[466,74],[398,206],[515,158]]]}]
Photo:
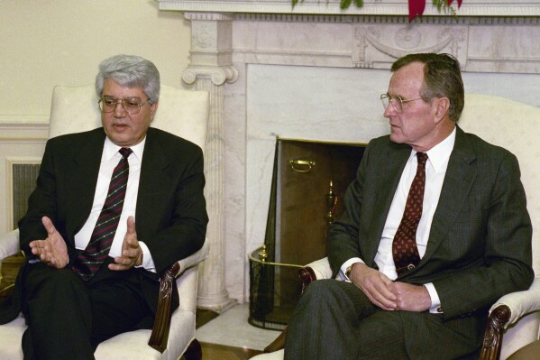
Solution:
[{"label": "dark fireplace opening with brass-handled screen between the two men", "polygon": [[264,245],[249,256],[253,326],[287,326],[302,289],[297,271],[325,257],[365,146],[277,138]]}]

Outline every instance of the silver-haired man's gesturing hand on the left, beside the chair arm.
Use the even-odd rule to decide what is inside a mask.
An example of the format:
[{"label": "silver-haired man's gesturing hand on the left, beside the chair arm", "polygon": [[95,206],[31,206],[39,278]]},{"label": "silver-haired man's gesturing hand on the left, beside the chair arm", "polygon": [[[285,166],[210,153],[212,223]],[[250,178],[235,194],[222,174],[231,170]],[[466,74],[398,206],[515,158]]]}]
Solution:
[{"label": "silver-haired man's gesturing hand on the left, beside the chair arm", "polygon": [[30,243],[32,254],[39,256],[41,262],[48,264],[50,267],[57,269],[66,267],[69,256],[64,238],[56,230],[56,227],[52,225],[49,217],[42,217],[41,223],[47,230],[47,238],[45,240],[34,240]]}]

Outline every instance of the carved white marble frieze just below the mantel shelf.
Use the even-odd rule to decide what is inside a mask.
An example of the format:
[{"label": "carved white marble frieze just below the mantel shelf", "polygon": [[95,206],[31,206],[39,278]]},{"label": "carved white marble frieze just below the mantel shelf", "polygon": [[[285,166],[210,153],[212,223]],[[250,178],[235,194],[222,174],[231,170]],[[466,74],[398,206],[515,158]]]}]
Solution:
[{"label": "carved white marble frieze just below the mantel shelf", "polygon": [[452,53],[463,71],[540,73],[538,18],[237,14],[233,63],[389,69],[410,52]]}]

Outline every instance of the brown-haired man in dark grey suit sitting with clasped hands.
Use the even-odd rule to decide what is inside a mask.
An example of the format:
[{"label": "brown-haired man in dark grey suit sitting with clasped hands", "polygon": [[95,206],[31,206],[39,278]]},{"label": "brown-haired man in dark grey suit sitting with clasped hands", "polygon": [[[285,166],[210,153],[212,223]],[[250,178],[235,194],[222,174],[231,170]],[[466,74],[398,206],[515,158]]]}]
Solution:
[{"label": "brown-haired man in dark grey suit sitting with clasped hands", "polygon": [[468,358],[490,305],[533,281],[517,159],[456,125],[459,62],[412,54],[391,70],[381,96],[390,134],[369,143],[328,233],[343,282],[307,287],[285,359]]}]

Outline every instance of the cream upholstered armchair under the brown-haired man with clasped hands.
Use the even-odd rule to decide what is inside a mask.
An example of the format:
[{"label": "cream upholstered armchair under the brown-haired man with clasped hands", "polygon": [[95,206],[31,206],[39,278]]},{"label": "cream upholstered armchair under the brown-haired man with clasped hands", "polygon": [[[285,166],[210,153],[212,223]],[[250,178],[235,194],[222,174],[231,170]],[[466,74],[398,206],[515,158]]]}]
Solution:
[{"label": "cream upholstered armchair under the brown-haired man with clasped hands", "polygon": [[[528,291],[510,293],[490,309],[481,349],[481,360],[504,360],[517,349],[537,340],[540,333],[540,108],[502,97],[471,94],[458,123],[467,133],[505,147],[517,156],[526,190],[527,209],[533,223],[533,268],[535,281]],[[308,264],[299,272],[307,286],[332,276],[328,260]],[[284,334],[266,348],[257,360],[283,358]]]}]

